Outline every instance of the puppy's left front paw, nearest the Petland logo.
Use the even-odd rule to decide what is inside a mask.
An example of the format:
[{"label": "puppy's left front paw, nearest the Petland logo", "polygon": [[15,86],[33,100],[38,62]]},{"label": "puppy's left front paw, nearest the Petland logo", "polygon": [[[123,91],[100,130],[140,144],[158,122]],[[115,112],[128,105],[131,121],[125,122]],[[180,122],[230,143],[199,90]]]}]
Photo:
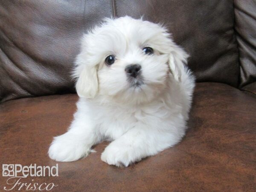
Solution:
[{"label": "puppy's left front paw, nearest the Petland logo", "polygon": [[69,134],[55,137],[48,151],[49,157],[56,161],[76,161],[86,157],[92,150]]}]

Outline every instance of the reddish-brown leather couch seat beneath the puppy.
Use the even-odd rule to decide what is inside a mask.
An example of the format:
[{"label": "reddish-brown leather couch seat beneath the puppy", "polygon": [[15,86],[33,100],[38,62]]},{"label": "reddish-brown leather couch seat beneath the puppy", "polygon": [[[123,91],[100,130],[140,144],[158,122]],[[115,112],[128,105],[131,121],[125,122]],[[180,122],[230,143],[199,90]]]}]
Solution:
[{"label": "reddish-brown leather couch seat beneath the puppy", "polygon": [[[0,164],[54,166],[47,150],[76,111],[76,94],[15,99],[0,113]],[[227,84],[198,83],[183,140],[128,168],[100,160],[96,153],[58,163],[59,177],[29,177],[55,183],[54,192],[72,191],[255,191],[256,95]],[[6,177],[0,177],[0,186]]]}]

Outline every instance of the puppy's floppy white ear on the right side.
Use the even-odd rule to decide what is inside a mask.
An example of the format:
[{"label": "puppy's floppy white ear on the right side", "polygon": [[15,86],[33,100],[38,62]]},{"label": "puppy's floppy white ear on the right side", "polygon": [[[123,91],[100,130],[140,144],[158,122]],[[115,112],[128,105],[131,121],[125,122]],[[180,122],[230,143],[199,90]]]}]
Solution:
[{"label": "puppy's floppy white ear on the right side", "polygon": [[187,64],[189,55],[180,47],[175,45],[169,53],[169,67],[176,81],[181,81],[184,73],[184,64]]}]

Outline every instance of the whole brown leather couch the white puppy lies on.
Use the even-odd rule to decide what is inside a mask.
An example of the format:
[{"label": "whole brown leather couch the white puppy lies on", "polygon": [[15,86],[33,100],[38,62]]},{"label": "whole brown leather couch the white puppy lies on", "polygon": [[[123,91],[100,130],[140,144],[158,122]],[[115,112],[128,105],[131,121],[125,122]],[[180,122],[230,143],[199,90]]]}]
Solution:
[{"label": "whole brown leather couch the white puppy lies on", "polygon": [[55,192],[256,191],[255,0],[1,0],[0,164],[56,164],[47,151],[76,110],[70,71],[81,35],[124,15],[164,23],[191,55],[198,83],[186,136],[128,168],[103,163],[102,143],[58,163],[58,177],[23,182],[55,183]]}]

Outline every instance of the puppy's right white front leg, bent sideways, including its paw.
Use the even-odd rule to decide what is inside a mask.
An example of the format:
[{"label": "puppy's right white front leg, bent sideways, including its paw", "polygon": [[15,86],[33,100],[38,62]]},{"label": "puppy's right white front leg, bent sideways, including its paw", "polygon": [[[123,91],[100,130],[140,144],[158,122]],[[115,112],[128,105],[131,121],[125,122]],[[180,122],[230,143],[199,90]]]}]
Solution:
[{"label": "puppy's right white front leg, bent sideways, including its paw", "polygon": [[175,145],[180,138],[172,133],[133,128],[110,143],[102,153],[101,159],[109,165],[128,166]]}]

